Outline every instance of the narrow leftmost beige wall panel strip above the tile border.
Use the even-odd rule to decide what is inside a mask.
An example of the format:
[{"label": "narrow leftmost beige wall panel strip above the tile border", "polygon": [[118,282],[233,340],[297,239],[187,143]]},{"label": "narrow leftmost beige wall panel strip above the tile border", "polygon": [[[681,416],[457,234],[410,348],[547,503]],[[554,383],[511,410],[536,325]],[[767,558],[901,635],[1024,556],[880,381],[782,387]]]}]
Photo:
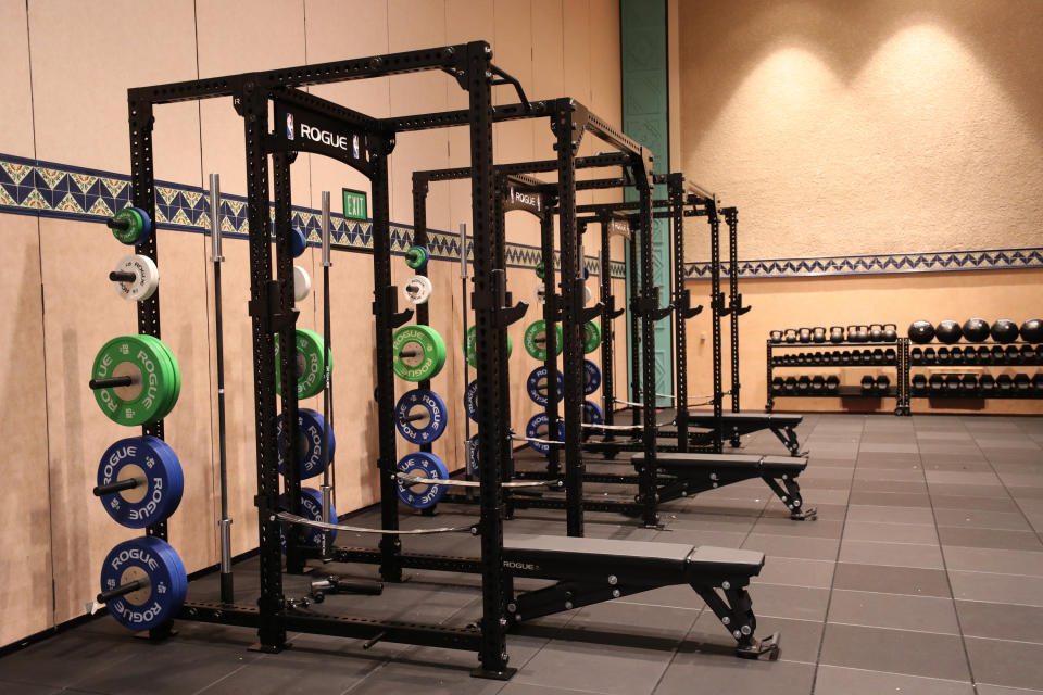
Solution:
[{"label": "narrow leftmost beige wall panel strip above the tile border", "polygon": [[[33,92],[28,25],[24,2],[0,3],[0,65],[4,98],[0,100],[0,152],[34,156]],[[124,112],[126,113],[126,112]]]}]

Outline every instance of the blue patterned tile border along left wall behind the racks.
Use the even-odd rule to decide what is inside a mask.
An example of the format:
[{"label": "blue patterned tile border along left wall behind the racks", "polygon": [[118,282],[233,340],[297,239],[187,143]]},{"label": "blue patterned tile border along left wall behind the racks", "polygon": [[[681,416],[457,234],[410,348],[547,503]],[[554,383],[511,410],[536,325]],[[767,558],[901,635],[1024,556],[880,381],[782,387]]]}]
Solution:
[{"label": "blue patterned tile border along left wall behind the racks", "polygon": [[[194,186],[169,181],[155,182],[156,226],[196,233],[210,232],[209,191]],[[249,235],[247,199],[222,193],[221,229],[230,238],[244,239]],[[60,217],[87,222],[104,222],[130,204],[130,177],[124,174],[99,172],[65,164],[28,160],[0,154],[0,212],[41,217]],[[274,215],[274,206],[273,206]],[[331,245],[343,251],[373,249],[373,222],[345,219],[334,213]],[[319,245],[322,213],[309,207],[293,207],[293,226],[304,231],[309,242]],[[444,231],[428,232],[430,256],[440,261],[460,261],[460,236]],[[410,225],[391,223],[391,249],[404,253],[413,243]],[[536,268],[540,261],[539,247],[507,243],[507,266]],[[470,244],[467,257],[472,257]],[[558,264],[555,257],[555,266]],[[599,275],[595,256],[587,256],[590,275]],[[626,277],[626,264],[613,262],[614,278]]]}]

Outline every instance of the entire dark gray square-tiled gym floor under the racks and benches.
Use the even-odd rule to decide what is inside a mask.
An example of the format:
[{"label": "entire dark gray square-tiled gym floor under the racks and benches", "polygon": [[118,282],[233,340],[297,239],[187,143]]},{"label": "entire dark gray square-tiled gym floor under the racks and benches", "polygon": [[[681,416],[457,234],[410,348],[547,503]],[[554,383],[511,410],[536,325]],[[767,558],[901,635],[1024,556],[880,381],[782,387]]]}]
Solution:
[{"label": "entire dark gray square-tiled gym floor under the racks and benches", "polygon": [[[751,595],[758,631],[781,632],[779,661],[734,658],[716,618],[674,586],[512,635],[510,683],[469,678],[466,652],[389,643],[364,652],[356,641],[293,635],[292,649],[262,656],[246,649],[247,629],[180,623],[175,640],[150,645],[106,617],[0,659],[0,693],[1043,693],[1043,418],[816,415],[800,433],[816,521],[790,521],[761,481],[747,481],[667,505],[662,531],[606,514],[587,527],[598,538],[765,552]],[[766,432],[745,446],[782,453]],[[433,521],[472,515],[447,508]],[[520,511],[511,531],[564,533],[562,514]],[[457,535],[404,543],[477,551]],[[253,567],[237,569],[240,603],[252,601]],[[466,624],[480,609],[476,584],[419,573],[382,597],[334,597],[322,610]],[[287,579],[289,595],[300,586]],[[194,582],[191,597],[216,597],[214,580]]]}]

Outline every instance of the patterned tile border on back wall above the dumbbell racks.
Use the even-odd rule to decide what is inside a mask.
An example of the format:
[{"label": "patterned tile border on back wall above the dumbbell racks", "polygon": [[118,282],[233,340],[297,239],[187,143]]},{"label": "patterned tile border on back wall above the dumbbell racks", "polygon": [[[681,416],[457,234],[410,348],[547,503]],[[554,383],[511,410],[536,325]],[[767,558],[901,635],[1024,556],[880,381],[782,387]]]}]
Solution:
[{"label": "patterned tile border on back wall above the dumbbell racks", "polygon": [[[820,258],[740,261],[741,278],[793,278],[829,275],[939,273],[947,270],[1014,270],[1043,268],[1043,248],[984,251],[934,251]],[[728,263],[721,264],[727,275]],[[689,263],[684,277],[708,279],[709,263]]]}]

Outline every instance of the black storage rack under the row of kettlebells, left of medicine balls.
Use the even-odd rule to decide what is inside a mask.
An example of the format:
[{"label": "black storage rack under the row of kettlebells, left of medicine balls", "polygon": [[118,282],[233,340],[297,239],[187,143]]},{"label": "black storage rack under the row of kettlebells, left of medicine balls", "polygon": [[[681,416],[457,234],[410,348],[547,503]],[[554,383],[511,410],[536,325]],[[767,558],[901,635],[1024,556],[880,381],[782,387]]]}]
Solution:
[{"label": "black storage rack under the row of kettlebells, left of medicine balls", "polygon": [[[776,399],[882,399],[891,397],[895,399],[895,415],[909,415],[909,340],[907,338],[899,338],[894,341],[880,341],[880,342],[795,342],[795,343],[778,343],[772,342],[771,340],[767,341],[767,390],[768,390],[768,400],[765,405],[767,412],[771,412],[775,407]],[[812,363],[807,362],[804,364],[782,364],[780,357],[776,355],[776,351],[783,349],[796,349],[803,351],[804,354],[808,356],[814,352],[835,352],[841,349],[857,349],[857,350],[887,350],[888,348],[894,349],[894,358],[887,362],[866,362],[858,364],[832,364],[832,363]],[[812,369],[865,369],[865,368],[880,368],[880,367],[891,367],[895,370],[895,378],[892,381],[891,386],[888,387],[885,392],[875,391],[872,393],[866,393],[863,391],[862,387],[845,387],[840,386],[834,391],[812,391],[808,390],[804,393],[776,393],[771,387],[771,380],[774,378],[775,369],[783,368],[789,369],[791,367],[796,368],[812,368]]]}]

